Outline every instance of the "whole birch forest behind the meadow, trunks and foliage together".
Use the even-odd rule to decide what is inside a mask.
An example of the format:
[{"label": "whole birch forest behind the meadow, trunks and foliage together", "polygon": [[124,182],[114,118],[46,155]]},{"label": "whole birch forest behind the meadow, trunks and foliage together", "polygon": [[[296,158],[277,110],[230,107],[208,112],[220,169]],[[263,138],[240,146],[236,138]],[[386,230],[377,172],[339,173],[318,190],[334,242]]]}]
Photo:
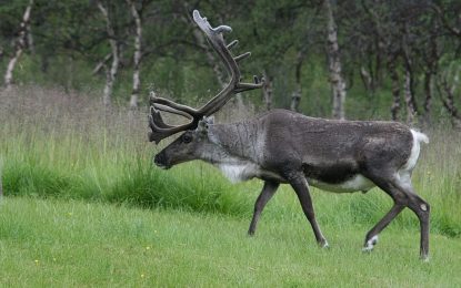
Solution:
[{"label": "whole birch forest behind the meadow, trunks and foliage together", "polygon": [[265,88],[237,97],[257,110],[461,126],[461,3],[447,1],[14,0],[0,2],[7,88],[91,92],[137,109],[150,91],[196,105],[226,71],[191,20],[233,28]]}]

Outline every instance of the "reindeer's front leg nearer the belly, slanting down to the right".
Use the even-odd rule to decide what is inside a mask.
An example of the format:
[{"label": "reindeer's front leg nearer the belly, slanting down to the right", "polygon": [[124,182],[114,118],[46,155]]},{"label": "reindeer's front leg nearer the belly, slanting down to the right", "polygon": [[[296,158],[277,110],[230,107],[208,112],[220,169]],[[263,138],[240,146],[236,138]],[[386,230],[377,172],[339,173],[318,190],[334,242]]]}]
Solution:
[{"label": "reindeer's front leg nearer the belly, slanting down to the right", "polygon": [[298,195],[298,199],[301,204],[302,210],[304,212],[305,217],[308,218],[309,223],[312,226],[313,234],[315,235],[317,243],[320,247],[327,248],[328,241],[323,237],[322,232],[320,230],[319,224],[315,220],[315,214],[312,207],[312,199],[309,193],[309,184],[302,173],[295,173],[294,175],[290,175],[287,177],[291,187],[293,187],[294,192]]}]

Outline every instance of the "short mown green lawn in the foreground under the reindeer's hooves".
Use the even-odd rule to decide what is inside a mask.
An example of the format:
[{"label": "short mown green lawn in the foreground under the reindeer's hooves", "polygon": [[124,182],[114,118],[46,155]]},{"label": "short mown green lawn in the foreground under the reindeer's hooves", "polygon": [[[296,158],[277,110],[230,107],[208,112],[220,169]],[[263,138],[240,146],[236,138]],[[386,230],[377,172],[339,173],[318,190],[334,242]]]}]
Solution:
[{"label": "short mown green lawn in the foreground under the reindeer's hooves", "polygon": [[[278,197],[278,196],[275,196]],[[248,219],[184,210],[7,197],[0,206],[2,287],[454,287],[461,241],[432,235],[430,263],[418,233],[387,229],[371,254],[368,227],[323,225],[320,249],[304,219]]]}]

